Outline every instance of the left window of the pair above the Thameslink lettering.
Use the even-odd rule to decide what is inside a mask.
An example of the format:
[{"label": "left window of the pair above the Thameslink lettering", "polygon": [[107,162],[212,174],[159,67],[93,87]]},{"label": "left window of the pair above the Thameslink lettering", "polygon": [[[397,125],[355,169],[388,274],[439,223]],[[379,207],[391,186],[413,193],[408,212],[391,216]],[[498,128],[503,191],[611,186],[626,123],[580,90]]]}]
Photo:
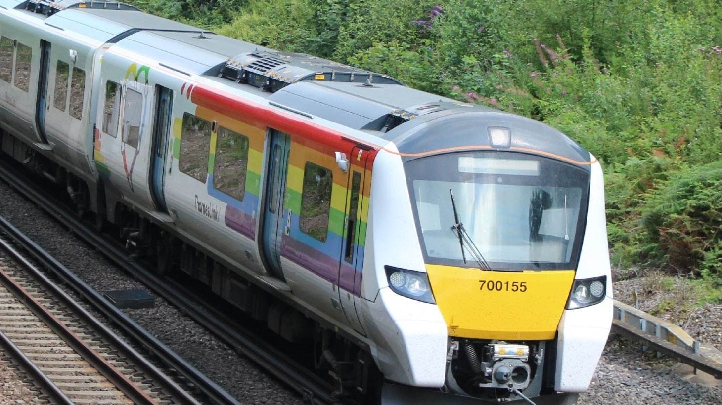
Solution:
[{"label": "left window of the pair above the Thameslink lettering", "polygon": [[199,182],[206,182],[210,148],[211,123],[188,112],[184,113],[178,169]]}]

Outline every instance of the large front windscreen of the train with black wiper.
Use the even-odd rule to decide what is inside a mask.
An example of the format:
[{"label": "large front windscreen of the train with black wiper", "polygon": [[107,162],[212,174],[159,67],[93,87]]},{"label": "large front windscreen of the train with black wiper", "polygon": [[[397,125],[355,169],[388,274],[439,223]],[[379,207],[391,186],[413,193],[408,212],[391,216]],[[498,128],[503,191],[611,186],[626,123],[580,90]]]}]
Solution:
[{"label": "large front windscreen of the train with black wiper", "polygon": [[562,270],[578,262],[586,169],[513,152],[407,161],[427,263],[484,270]]}]

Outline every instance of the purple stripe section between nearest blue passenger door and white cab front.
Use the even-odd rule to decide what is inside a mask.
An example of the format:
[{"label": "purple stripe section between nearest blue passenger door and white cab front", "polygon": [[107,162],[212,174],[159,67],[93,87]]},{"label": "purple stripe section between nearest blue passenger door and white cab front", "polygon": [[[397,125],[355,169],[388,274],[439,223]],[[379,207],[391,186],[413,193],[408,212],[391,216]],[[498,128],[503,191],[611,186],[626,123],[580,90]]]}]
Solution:
[{"label": "purple stripe section between nearest blue passenger door and white cab front", "polygon": [[[336,283],[339,277],[338,259],[333,259],[323,252],[312,249],[303,242],[297,241],[290,236],[283,235],[281,239],[281,255],[292,262],[305,267],[310,272],[323,277],[325,280]],[[341,265],[341,280],[338,280],[339,288],[359,295],[361,291],[361,274],[349,265]]]}]

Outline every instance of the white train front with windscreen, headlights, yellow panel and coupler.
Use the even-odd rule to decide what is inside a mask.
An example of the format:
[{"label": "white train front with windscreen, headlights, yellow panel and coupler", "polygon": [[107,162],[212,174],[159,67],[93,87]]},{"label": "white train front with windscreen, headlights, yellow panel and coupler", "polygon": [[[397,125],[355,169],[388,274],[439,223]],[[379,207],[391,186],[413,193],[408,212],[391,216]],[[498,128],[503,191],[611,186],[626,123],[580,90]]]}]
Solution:
[{"label": "white train front with windscreen, headlights, yellow panel and coupler", "polygon": [[[376,160],[392,161],[401,158],[379,153]],[[388,285],[377,298],[388,313],[367,312],[388,317],[379,322],[394,324],[385,339],[398,342],[388,352],[406,356],[393,359],[396,368],[385,353],[377,357],[387,378],[404,384],[386,384],[384,403],[427,402],[442,393],[445,402],[526,396],[537,404],[573,403],[591,382],[612,316],[599,164],[461,151],[409,159],[404,172],[419,247],[396,246],[406,254],[387,257],[374,246],[377,266],[394,266],[386,265],[387,280],[379,280]],[[392,187],[377,186],[387,194]],[[407,221],[391,218],[401,213],[377,211],[375,203],[371,239],[380,220],[396,240],[412,240]],[[414,254],[422,255],[422,269]]]}]

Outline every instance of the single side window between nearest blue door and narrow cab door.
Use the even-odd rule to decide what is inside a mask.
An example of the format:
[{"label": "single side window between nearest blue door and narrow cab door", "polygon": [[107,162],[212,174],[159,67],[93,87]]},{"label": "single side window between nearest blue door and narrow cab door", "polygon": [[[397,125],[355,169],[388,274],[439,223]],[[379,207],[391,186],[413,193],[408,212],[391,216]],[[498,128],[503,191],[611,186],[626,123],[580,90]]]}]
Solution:
[{"label": "single side window between nearest blue door and narrow cab door", "polygon": [[325,242],[329,231],[331,189],[334,175],[325,167],[306,162],[301,192],[300,228],[304,233]]}]

